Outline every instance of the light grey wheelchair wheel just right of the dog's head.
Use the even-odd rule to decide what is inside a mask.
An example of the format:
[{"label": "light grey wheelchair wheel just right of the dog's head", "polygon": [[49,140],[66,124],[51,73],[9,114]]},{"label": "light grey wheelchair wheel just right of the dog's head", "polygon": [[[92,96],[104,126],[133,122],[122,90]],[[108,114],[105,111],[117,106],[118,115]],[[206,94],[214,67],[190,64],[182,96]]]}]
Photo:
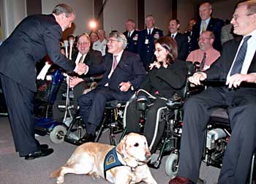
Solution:
[{"label": "light grey wheelchair wheel just right of the dog's head", "polygon": [[170,176],[171,179],[176,177],[178,172],[178,154],[170,153],[165,162],[165,173]]}]

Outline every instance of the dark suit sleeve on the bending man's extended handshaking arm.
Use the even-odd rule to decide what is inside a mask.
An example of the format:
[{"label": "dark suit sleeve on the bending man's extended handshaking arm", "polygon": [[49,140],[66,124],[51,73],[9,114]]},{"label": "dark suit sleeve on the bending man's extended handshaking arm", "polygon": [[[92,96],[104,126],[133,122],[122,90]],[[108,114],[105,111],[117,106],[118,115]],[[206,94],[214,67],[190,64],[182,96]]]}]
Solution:
[{"label": "dark suit sleeve on the bending man's extended handshaking arm", "polygon": [[54,64],[61,66],[61,68],[67,70],[67,72],[73,72],[75,69],[75,63],[70,61],[61,53],[59,46],[59,38],[61,38],[61,31],[59,26],[49,26],[45,29],[42,37],[45,41],[46,51],[50,57],[50,60]]}]

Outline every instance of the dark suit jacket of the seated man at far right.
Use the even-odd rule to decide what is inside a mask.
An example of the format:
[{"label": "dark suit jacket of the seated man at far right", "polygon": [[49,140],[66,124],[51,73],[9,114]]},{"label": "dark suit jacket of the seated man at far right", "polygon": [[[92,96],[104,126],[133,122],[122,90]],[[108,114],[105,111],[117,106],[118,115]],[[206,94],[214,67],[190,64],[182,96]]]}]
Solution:
[{"label": "dark suit jacket of the seated man at far right", "polygon": [[[211,68],[206,71],[207,79],[226,80],[233,60],[236,57],[240,42],[241,37],[225,42],[222,48],[222,55],[211,65]],[[256,72],[256,55],[254,55],[252,63],[249,66],[248,74],[252,72]]]}]

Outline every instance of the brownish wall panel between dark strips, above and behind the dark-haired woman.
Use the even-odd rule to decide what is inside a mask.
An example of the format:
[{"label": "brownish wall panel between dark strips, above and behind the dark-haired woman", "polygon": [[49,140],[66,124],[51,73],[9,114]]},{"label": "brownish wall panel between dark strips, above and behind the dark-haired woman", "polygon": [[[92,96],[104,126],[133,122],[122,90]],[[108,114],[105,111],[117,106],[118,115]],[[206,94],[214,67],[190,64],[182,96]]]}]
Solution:
[{"label": "brownish wall panel between dark strips, above and behind the dark-haired woman", "polygon": [[[180,1],[180,0],[178,0]],[[155,26],[164,31],[164,35],[168,32],[169,20],[172,16],[172,4],[170,0],[145,0],[145,17],[153,15]]]}]

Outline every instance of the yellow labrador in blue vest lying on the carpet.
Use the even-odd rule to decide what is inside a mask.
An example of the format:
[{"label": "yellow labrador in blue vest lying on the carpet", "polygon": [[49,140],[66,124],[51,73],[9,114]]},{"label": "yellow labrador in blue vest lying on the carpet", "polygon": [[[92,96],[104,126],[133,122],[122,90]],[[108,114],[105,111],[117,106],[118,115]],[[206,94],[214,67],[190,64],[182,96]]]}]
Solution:
[{"label": "yellow labrador in blue vest lying on the carpet", "polygon": [[157,184],[147,166],[151,158],[146,137],[130,133],[116,146],[87,142],[76,148],[75,152],[50,177],[57,177],[57,183],[64,183],[64,175],[91,175],[103,177],[110,183]]}]

